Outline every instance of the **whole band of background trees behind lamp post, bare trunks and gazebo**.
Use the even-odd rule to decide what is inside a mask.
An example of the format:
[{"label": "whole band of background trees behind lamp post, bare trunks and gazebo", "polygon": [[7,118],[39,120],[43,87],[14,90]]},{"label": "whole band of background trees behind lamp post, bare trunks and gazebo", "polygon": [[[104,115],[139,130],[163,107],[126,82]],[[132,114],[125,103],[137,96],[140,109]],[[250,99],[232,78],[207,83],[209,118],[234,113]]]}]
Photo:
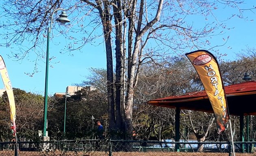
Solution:
[{"label": "whole band of background trees behind lamp post, bare trunks and gazebo", "polygon": [[[244,54],[239,54],[238,59],[232,61],[232,65],[237,64],[237,68],[228,68],[230,61],[221,62],[221,71],[225,73],[223,74],[224,82],[231,84],[236,83],[236,81],[242,82],[244,71],[247,71],[254,79],[255,73],[250,69],[255,63],[254,53],[255,50],[250,49]],[[175,135],[174,109],[149,106],[145,104],[146,101],[202,89],[201,83],[198,83],[197,75],[193,74],[194,69],[190,68],[191,63],[183,58],[172,58],[172,60],[176,61],[170,66],[165,65],[165,68],[159,68],[153,64],[145,64],[141,67],[141,75],[139,76],[138,87],[135,89],[132,108],[134,139],[165,140],[172,139]],[[183,67],[184,70],[178,67]],[[230,81],[230,78],[236,78],[236,76],[240,77]],[[102,90],[105,89],[104,83],[102,84],[104,81],[106,81],[106,69],[91,69],[91,76],[87,77],[84,85],[98,84],[96,89],[90,90],[90,87],[85,87],[76,95],[67,98],[65,136],[67,139],[92,139],[95,137],[96,125],[92,123],[92,115],[95,120],[102,121],[104,130],[107,130],[106,136],[109,137],[107,93],[106,90]],[[43,129],[43,96],[26,93],[21,89],[13,89],[13,92],[17,109],[17,135],[19,138],[26,137],[35,141],[39,139],[37,137],[38,130]],[[63,139],[64,106],[65,97],[49,97],[48,134],[52,139]],[[231,116],[231,118],[234,122],[233,125],[239,125],[239,117]],[[256,120],[253,119],[252,124],[255,125]],[[181,138],[197,139],[198,141],[228,141],[230,132],[227,130],[219,136],[216,126],[213,126],[214,122],[213,114],[182,110],[180,113]],[[12,138],[9,124],[9,104],[7,94],[4,93],[0,98],[0,141],[8,141]],[[234,127],[234,140],[239,141],[239,128],[236,127]],[[255,139],[256,136],[255,128],[254,126],[250,130],[252,139]]]}]

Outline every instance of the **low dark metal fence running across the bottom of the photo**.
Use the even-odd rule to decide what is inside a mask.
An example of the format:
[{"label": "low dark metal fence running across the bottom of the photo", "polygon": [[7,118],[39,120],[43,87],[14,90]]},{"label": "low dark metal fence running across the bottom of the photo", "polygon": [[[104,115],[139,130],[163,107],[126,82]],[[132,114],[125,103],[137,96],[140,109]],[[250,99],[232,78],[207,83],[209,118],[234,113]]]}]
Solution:
[{"label": "low dark metal fence running across the bottom of the photo", "polygon": [[[235,142],[235,152],[256,156],[255,145],[256,141]],[[0,156],[14,156],[14,148],[15,142],[0,142]],[[23,141],[18,149],[19,156],[231,156],[232,152],[230,142],[125,140]]]}]

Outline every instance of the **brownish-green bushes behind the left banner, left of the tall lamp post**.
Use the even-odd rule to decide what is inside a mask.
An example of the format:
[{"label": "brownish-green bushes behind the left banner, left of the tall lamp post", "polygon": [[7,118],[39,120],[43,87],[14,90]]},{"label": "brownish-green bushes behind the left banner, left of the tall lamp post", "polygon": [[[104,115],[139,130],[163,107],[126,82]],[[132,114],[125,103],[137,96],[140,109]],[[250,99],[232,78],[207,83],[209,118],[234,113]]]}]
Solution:
[{"label": "brownish-green bushes behind the left banner, left of the tall lamp post", "polygon": [[[43,97],[34,93],[26,93],[21,89],[13,89],[16,106],[16,129],[17,135],[22,138],[36,139],[37,128],[40,128],[42,113],[40,104],[43,104]],[[1,139],[7,141],[12,138],[10,129],[10,106],[7,93],[4,92],[0,100],[0,131]]]}]

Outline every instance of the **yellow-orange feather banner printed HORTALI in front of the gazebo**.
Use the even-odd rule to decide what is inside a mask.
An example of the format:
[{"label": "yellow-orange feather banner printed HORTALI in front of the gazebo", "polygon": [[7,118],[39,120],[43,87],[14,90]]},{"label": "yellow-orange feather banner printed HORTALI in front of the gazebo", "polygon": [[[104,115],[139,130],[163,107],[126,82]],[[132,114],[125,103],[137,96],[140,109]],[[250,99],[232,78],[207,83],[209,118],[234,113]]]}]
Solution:
[{"label": "yellow-orange feather banner printed HORTALI in front of the gazebo", "polygon": [[229,115],[218,62],[213,54],[206,50],[190,52],[186,56],[195,67],[202,81],[213,107],[218,133],[221,134],[228,126]]}]

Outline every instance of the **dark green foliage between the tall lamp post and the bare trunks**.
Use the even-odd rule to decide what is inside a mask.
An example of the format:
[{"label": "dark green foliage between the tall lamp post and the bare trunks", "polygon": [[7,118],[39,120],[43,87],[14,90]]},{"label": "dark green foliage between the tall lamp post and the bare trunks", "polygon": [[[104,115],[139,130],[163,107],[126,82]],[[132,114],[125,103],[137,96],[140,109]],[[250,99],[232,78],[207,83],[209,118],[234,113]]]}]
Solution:
[{"label": "dark green foliage between the tall lamp post and the bare trunks", "polygon": [[[63,139],[65,98],[55,98],[52,110],[48,113],[48,130],[52,139]],[[66,103],[66,139],[92,139],[95,136],[96,119],[107,119],[107,103],[100,90],[85,87],[76,92]]]}]

